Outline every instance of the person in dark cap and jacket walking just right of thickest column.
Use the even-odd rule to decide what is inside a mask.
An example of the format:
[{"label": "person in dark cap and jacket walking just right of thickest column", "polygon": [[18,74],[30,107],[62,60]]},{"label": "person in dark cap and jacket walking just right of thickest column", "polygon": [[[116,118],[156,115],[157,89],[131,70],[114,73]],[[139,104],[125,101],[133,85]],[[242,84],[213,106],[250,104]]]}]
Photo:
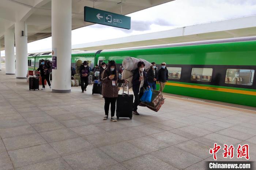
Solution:
[{"label": "person in dark cap and jacket walking just right of thickest column", "polygon": [[88,76],[90,74],[88,62],[84,61],[83,64],[80,66],[80,77],[81,77],[81,89],[82,93],[84,93],[84,90],[86,91],[87,85],[89,84],[88,82]]}]

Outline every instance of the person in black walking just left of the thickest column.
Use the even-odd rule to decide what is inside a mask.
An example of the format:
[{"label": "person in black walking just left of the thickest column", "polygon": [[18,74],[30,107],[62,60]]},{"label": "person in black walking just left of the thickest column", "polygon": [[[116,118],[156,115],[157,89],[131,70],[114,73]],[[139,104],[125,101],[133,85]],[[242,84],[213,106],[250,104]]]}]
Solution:
[{"label": "person in black walking just left of the thickest column", "polygon": [[50,83],[50,72],[52,70],[52,67],[49,64],[46,64],[44,59],[41,60],[41,65],[38,67],[37,71],[40,70],[40,75],[41,75],[41,81],[42,81],[42,90],[45,90],[45,79],[49,85],[49,88],[51,89],[51,83]]}]

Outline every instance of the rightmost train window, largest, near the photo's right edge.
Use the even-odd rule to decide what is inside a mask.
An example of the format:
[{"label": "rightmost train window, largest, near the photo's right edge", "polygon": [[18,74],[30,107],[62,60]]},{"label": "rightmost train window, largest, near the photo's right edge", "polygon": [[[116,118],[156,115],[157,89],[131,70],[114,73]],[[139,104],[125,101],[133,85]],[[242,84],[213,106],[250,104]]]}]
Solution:
[{"label": "rightmost train window, largest, near the photo's right edge", "polygon": [[225,83],[251,86],[255,70],[227,69]]}]

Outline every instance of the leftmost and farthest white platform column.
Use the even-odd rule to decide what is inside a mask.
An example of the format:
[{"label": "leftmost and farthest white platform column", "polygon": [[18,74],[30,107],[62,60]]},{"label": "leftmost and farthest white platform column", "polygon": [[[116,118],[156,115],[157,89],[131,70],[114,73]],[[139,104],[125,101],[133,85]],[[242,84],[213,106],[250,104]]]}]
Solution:
[{"label": "leftmost and farthest white platform column", "polygon": [[15,55],[14,55],[14,31],[8,29],[4,34],[5,50],[5,74],[15,74]]}]

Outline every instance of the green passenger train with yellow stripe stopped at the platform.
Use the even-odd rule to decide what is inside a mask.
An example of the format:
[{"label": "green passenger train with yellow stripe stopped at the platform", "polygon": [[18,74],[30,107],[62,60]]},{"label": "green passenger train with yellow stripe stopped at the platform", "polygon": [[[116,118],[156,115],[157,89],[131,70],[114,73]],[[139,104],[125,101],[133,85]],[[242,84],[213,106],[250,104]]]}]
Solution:
[{"label": "green passenger train with yellow stripe stopped at the platform", "polygon": [[[71,63],[75,67],[78,59],[87,60],[93,67],[114,60],[120,66],[126,57],[156,62],[158,68],[160,63],[166,62],[169,79],[163,91],[165,93],[256,107],[256,36],[75,51],[71,54]],[[40,59],[50,58],[50,53],[29,56],[29,69],[36,69]]]}]

